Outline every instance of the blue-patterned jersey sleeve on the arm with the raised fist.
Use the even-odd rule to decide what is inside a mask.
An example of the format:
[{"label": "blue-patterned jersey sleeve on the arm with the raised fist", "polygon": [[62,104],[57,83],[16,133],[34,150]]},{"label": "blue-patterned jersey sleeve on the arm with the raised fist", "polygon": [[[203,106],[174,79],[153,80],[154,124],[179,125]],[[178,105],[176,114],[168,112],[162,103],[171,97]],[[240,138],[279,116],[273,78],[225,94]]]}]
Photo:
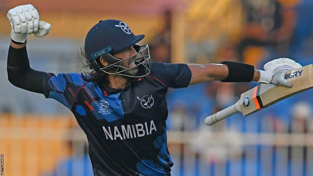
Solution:
[{"label": "blue-patterned jersey sleeve on the arm with the raised fist", "polygon": [[44,96],[53,98],[71,109],[76,93],[85,82],[81,75],[79,73],[47,74],[49,75],[48,78],[43,80]]}]

